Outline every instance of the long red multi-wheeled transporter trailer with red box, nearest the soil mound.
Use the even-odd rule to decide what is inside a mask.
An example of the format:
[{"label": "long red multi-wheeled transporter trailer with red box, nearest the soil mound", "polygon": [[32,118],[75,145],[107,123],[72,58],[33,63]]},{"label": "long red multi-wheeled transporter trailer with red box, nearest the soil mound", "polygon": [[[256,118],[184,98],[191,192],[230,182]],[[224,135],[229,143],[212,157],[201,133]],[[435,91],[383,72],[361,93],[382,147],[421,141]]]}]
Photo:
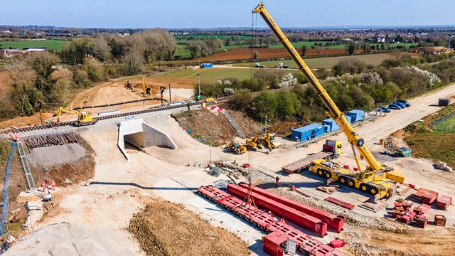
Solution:
[{"label": "long red multi-wheeled transporter trailer with red box, nearest the soil mound", "polygon": [[214,186],[201,186],[198,188],[198,193],[210,201],[220,203],[220,206],[223,208],[269,233],[269,235],[265,235],[262,238],[264,252],[267,252],[269,255],[282,256],[286,252],[285,248],[288,240],[296,242],[296,249],[301,250],[306,255],[345,255],[343,252],[335,250],[333,247],[325,245],[300,230],[293,228],[291,225],[285,223],[284,220],[279,220],[254,205],[248,205],[243,199],[241,200],[235,196],[231,196],[229,193],[221,191]]}]

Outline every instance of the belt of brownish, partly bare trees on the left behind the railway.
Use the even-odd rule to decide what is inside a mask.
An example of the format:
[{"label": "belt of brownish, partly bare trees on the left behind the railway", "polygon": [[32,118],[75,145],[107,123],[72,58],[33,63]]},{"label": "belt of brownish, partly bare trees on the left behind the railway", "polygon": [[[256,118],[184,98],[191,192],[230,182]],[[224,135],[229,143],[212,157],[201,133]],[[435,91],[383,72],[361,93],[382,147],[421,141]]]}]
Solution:
[{"label": "belt of brownish, partly bare trees on the left behind the railway", "polygon": [[73,92],[93,82],[137,75],[148,64],[172,60],[176,49],[168,31],[153,29],[125,37],[75,38],[57,53],[28,53],[6,66],[13,92],[0,97],[0,119],[32,115],[38,100],[45,108],[68,102]]}]

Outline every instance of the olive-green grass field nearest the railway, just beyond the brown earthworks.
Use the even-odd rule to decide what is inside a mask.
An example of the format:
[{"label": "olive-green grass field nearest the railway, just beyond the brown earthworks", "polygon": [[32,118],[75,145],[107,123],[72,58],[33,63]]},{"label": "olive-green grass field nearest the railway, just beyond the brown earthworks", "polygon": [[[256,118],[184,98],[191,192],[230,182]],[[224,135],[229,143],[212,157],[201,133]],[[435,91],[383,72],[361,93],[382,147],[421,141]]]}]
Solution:
[{"label": "olive-green grass field nearest the railway, just beyond the brown earthworks", "polygon": [[[226,78],[237,78],[239,80],[250,79],[255,70],[248,68],[201,68],[196,70],[176,70],[166,75],[159,75],[166,78],[185,78],[197,80],[200,75],[201,81],[213,82]],[[271,70],[272,71],[272,70]],[[283,73],[297,73],[298,70],[280,70]]]}]

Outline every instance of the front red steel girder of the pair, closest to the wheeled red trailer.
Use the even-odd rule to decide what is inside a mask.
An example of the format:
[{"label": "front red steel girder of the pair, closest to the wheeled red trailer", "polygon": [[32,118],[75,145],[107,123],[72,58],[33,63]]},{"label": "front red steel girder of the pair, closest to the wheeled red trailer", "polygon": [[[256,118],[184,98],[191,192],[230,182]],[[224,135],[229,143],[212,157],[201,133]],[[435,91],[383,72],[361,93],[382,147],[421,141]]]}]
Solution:
[{"label": "front red steel girder of the pair, closest to the wheeled red trailer", "polygon": [[[248,195],[247,189],[234,184],[228,184],[228,193],[239,198],[245,198]],[[276,201],[255,192],[252,192],[252,197],[255,200],[256,206],[270,210],[275,215],[286,218],[297,225],[301,225],[303,228],[312,230],[321,236],[321,238],[324,235],[327,235],[327,223],[319,220],[319,218],[314,218],[306,213],[301,213],[299,210],[284,206],[282,203],[277,203]]]}]

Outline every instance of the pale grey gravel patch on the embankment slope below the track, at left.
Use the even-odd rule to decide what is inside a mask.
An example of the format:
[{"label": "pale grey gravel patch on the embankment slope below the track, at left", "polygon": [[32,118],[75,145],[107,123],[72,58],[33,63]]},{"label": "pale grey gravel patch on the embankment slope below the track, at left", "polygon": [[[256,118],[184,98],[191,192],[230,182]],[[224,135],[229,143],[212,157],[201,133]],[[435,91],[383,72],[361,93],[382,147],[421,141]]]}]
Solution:
[{"label": "pale grey gravel patch on the embankment slope below the track, at left", "polygon": [[32,149],[27,155],[27,159],[29,163],[38,163],[40,166],[53,166],[77,161],[84,157],[85,154],[86,151],[83,146],[71,143]]}]

